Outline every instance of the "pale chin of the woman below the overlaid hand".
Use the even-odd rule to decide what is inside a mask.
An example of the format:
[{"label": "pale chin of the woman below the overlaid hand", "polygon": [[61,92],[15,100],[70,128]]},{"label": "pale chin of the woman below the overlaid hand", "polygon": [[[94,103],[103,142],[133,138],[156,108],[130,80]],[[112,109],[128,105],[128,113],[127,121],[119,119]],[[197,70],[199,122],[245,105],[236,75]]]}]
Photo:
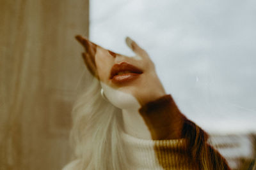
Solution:
[{"label": "pale chin of the woman below the overlaid hand", "polygon": [[116,108],[120,108],[121,110],[140,109],[140,103],[138,103],[138,100],[131,94],[113,89],[105,83],[101,83],[101,86],[109,103],[116,106]]}]

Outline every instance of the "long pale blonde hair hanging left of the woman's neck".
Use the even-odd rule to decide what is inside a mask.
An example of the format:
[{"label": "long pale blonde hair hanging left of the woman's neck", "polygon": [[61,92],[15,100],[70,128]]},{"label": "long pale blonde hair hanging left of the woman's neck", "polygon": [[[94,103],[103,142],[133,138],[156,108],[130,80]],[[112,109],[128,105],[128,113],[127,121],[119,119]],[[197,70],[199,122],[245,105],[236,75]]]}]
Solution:
[{"label": "long pale blonde hair hanging left of the woman's neck", "polygon": [[120,140],[121,110],[100,96],[96,78],[74,104],[70,133],[77,169],[125,169],[125,154]]}]

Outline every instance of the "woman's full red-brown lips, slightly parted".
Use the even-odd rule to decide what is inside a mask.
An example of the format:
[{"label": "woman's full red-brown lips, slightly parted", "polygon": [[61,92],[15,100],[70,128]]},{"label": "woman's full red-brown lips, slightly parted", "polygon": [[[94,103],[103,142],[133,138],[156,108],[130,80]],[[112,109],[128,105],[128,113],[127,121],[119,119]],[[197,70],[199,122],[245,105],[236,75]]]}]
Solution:
[{"label": "woman's full red-brown lips, slightly parted", "polygon": [[113,83],[120,84],[132,81],[138,78],[138,76],[140,76],[142,73],[143,71],[141,71],[141,69],[138,69],[127,62],[121,62],[120,64],[115,64],[112,67],[110,79],[113,81]]}]

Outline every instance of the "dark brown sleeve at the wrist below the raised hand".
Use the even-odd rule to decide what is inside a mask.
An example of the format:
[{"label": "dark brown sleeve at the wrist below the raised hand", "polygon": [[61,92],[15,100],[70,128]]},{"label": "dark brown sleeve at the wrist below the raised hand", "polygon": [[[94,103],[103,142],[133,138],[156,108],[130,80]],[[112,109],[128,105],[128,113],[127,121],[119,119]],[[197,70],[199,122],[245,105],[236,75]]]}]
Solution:
[{"label": "dark brown sleeve at the wrist below the raised hand", "polygon": [[181,138],[184,115],[173,101],[172,96],[165,95],[151,101],[139,110],[150,130],[152,139]]}]

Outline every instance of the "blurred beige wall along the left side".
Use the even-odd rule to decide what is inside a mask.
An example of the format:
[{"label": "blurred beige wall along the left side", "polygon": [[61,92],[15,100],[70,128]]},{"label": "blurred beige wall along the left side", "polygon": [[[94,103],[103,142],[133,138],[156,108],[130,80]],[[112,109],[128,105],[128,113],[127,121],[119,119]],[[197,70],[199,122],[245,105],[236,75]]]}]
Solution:
[{"label": "blurred beige wall along the left side", "polygon": [[85,67],[88,0],[0,0],[0,169],[56,170]]}]

